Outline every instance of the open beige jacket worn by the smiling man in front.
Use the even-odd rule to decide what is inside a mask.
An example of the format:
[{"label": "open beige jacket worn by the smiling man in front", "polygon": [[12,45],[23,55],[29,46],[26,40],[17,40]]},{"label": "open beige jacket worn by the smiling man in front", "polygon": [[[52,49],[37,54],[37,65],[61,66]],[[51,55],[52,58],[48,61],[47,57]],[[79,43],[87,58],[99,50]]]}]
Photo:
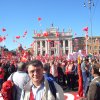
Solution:
[{"label": "open beige jacket worn by the smiling man in front", "polygon": [[[22,90],[21,100],[29,100],[30,90],[32,88],[32,85],[33,84],[31,80],[25,85],[24,89]],[[50,91],[49,83],[47,79],[44,79],[44,90],[43,90],[44,93],[43,93],[43,96],[41,97],[41,100],[64,100],[64,93],[63,93],[62,88],[56,82],[54,82],[54,85],[57,90],[56,99]]]}]

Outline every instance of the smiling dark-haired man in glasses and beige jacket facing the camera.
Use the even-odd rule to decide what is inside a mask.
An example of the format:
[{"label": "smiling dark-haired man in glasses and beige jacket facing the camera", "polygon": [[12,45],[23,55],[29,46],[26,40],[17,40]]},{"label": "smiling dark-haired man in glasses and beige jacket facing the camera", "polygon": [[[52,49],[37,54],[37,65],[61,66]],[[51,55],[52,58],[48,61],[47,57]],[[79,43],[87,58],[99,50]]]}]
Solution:
[{"label": "smiling dark-haired man in glasses and beige jacket facing the camera", "polygon": [[31,80],[25,85],[21,100],[64,100],[62,88],[56,82],[53,82],[56,88],[55,98],[50,89],[49,81],[43,76],[43,64],[41,61],[30,61],[27,65],[27,70]]}]

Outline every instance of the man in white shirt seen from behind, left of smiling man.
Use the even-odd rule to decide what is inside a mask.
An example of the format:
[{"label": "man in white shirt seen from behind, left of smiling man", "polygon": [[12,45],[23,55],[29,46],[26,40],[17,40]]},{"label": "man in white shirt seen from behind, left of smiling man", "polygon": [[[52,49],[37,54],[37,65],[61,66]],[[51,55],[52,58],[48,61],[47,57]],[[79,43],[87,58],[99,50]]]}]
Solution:
[{"label": "man in white shirt seen from behind, left of smiling man", "polygon": [[24,85],[30,80],[28,74],[26,73],[26,65],[23,62],[18,63],[17,71],[12,73],[8,80],[11,80],[16,89],[17,93],[13,93],[14,100],[20,100],[21,92]]}]

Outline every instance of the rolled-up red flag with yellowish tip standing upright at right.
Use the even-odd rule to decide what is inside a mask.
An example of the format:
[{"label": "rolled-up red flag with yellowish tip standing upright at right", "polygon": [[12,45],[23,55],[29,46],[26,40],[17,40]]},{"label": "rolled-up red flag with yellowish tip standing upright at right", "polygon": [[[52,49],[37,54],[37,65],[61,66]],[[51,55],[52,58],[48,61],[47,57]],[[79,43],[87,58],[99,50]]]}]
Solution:
[{"label": "rolled-up red flag with yellowish tip standing upright at right", "polygon": [[78,56],[78,94],[80,97],[83,97],[83,79],[82,79],[82,71],[81,71],[81,59],[80,56]]}]

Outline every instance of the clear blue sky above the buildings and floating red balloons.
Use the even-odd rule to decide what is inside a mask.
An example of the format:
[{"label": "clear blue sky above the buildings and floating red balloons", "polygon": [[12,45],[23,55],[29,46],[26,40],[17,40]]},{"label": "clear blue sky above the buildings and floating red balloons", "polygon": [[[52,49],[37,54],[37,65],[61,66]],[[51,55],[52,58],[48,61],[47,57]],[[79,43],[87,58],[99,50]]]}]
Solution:
[{"label": "clear blue sky above the buildings and floating red balloons", "polygon": [[[6,45],[9,50],[18,47],[21,43],[26,48],[30,47],[33,41],[34,30],[45,31],[51,24],[68,31],[72,29],[72,34],[76,36],[85,36],[82,29],[89,27],[91,35],[90,14],[87,5],[88,0],[0,0],[0,35],[8,34],[5,42],[0,45]],[[92,6],[92,35],[100,36],[100,0],[92,0],[95,6]],[[84,2],[86,7],[84,7]],[[38,21],[38,17],[42,20]],[[41,25],[40,25],[41,24]],[[6,32],[2,32],[2,28]],[[27,36],[20,38],[18,43],[14,43],[15,36],[22,36],[27,30]]]}]

